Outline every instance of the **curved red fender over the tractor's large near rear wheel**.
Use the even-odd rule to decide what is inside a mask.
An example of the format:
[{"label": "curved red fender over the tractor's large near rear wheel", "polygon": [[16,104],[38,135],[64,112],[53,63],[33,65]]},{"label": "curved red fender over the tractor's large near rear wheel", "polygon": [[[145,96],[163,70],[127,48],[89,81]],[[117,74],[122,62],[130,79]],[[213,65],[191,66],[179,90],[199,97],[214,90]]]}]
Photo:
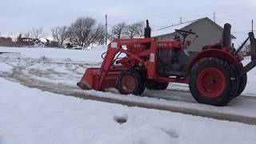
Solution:
[{"label": "curved red fender over the tractor's large near rear wheel", "polygon": [[208,50],[203,50],[200,52],[195,58],[192,59],[190,62],[190,65],[187,70],[187,74],[190,73],[190,70],[193,68],[193,66],[199,62],[202,58],[222,58],[226,62],[229,62],[231,64],[237,64],[240,62],[239,58],[235,57],[234,54],[230,54],[229,51],[226,51],[225,49],[220,50],[220,49],[208,49]]}]

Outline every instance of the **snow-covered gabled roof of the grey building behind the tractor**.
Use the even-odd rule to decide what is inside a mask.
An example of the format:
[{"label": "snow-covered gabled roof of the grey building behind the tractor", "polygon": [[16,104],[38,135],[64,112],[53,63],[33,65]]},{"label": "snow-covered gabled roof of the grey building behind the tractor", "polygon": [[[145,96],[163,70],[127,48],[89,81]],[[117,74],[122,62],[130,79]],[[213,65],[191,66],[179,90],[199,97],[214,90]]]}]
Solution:
[{"label": "snow-covered gabled roof of the grey building behind the tractor", "polygon": [[[168,26],[164,27],[162,29],[154,30],[151,34],[152,37],[158,37],[158,36],[163,36],[167,34],[173,34],[175,32],[175,29],[181,30],[181,29],[186,29],[187,26],[191,26],[192,24],[195,24],[197,22],[202,22],[202,21],[208,21],[210,22],[213,26],[215,26],[217,29],[223,30],[222,26],[219,26],[216,22],[213,22],[210,20],[210,18],[199,18],[194,21],[190,22],[183,22],[182,24],[177,24],[173,26]],[[232,38],[235,38],[234,35],[231,34]]]}]

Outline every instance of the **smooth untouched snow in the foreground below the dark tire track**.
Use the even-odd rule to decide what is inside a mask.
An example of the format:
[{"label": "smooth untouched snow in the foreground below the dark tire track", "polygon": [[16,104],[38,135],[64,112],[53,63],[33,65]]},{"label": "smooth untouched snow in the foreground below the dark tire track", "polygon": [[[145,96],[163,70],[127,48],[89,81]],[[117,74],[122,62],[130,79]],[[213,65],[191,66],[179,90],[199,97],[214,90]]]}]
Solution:
[{"label": "smooth untouched snow in the foreground below the dark tire track", "polygon": [[[256,141],[256,126],[238,122],[83,100],[30,89],[3,78],[0,91],[1,144]],[[118,123],[117,118],[126,122]]]}]

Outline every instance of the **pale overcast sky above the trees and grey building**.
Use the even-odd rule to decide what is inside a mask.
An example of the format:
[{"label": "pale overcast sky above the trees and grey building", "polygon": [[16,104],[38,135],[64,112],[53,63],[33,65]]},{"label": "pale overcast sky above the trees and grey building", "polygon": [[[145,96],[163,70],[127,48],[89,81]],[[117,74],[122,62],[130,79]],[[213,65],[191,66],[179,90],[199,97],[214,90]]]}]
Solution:
[{"label": "pale overcast sky above the trees and grey building", "polygon": [[[172,23],[209,17],[221,26],[232,25],[238,42],[251,30],[251,19],[256,23],[256,0],[1,0],[0,32],[2,35],[42,27],[50,34],[54,26],[70,25],[76,18],[92,17],[109,26],[117,22],[150,20],[153,29]],[[254,25],[256,29],[256,24]]]}]

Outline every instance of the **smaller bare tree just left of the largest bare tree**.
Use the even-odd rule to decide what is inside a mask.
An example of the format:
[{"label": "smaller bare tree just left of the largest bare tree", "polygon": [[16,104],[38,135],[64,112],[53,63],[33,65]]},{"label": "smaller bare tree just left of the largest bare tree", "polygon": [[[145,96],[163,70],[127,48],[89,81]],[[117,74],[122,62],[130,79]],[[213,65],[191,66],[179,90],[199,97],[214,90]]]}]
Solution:
[{"label": "smaller bare tree just left of the largest bare tree", "polygon": [[63,43],[70,37],[70,31],[67,26],[56,26],[51,30],[53,38],[58,41],[59,46],[63,47]]}]

